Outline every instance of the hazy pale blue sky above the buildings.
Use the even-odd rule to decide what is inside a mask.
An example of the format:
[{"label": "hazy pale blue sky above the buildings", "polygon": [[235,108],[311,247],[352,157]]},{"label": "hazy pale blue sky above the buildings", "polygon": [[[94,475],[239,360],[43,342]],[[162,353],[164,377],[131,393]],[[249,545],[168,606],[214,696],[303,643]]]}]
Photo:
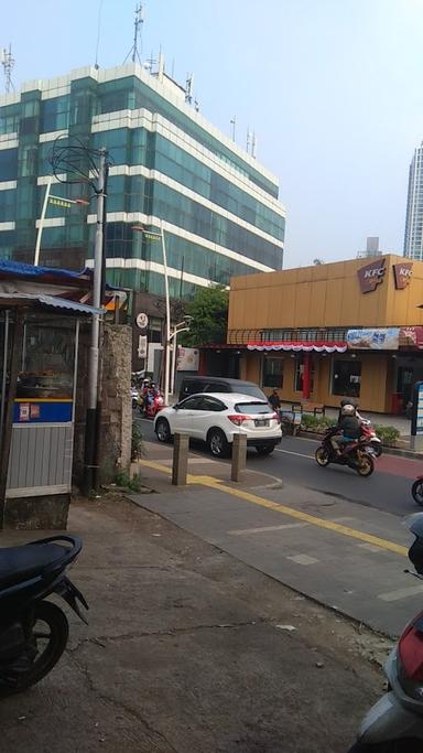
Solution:
[{"label": "hazy pale blue sky above the buildings", "polygon": [[[423,139],[423,0],[145,0],[142,56],[161,46],[202,114],[280,181],[285,267],[402,252],[408,170]],[[2,3],[13,83],[121,65],[135,0]]]}]

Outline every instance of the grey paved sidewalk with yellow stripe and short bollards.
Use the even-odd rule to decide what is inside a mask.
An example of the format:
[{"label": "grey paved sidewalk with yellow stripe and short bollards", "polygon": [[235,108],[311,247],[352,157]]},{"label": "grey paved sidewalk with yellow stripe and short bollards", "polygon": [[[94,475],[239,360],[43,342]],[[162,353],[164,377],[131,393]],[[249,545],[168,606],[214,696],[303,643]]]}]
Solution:
[{"label": "grey paved sidewalk with yellow stripe and short bollards", "polygon": [[160,494],[132,495],[203,540],[299,592],[398,635],[419,609],[423,583],[404,574],[413,540],[398,516],[336,496],[279,484],[230,464],[189,458],[189,485],[172,487],[172,447],[145,443],[141,473]]}]

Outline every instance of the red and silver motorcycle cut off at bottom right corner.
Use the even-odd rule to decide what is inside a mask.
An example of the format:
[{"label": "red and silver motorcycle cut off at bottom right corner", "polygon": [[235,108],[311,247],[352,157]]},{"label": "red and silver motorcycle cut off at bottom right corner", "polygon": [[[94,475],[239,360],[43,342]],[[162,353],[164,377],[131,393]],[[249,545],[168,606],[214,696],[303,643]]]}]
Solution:
[{"label": "red and silver motorcycle cut off at bottom right corner", "polygon": [[[423,579],[423,513],[405,519],[415,536],[409,559]],[[405,571],[406,572],[406,571]],[[415,575],[415,573],[412,573]],[[388,692],[361,722],[348,753],[421,753],[423,751],[423,612],[405,627],[384,667]]]}]

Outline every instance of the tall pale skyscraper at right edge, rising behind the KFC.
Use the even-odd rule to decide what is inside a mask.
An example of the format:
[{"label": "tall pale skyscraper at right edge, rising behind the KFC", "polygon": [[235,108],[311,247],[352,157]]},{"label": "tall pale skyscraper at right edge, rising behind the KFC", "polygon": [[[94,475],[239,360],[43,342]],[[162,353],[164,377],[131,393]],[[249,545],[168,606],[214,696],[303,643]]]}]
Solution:
[{"label": "tall pale skyscraper at right edge, rising behind the KFC", "polygon": [[410,164],[404,256],[423,261],[423,141]]}]

